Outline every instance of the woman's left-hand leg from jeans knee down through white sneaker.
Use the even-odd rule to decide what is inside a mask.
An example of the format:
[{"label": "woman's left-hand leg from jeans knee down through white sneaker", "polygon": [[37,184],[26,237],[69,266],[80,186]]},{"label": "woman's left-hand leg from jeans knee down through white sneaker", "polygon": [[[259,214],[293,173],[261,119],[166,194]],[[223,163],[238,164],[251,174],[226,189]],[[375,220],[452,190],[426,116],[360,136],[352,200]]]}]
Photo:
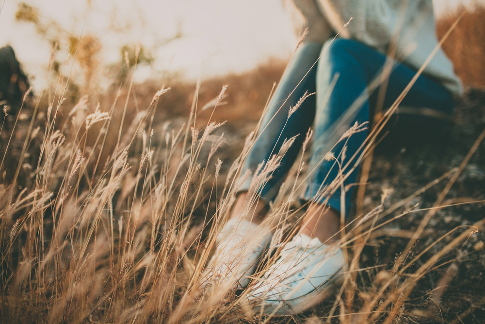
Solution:
[{"label": "woman's left-hand leg from jeans knee down through white sneaker", "polygon": [[[254,173],[260,163],[267,162],[280,151],[286,138],[307,132],[315,114],[315,96],[308,98],[291,117],[289,110],[305,91],[315,91],[316,65],[314,68],[312,65],[320,55],[321,47],[321,44],[304,44],[293,55],[269,103],[259,129],[258,140],[246,159],[242,174],[247,170]],[[217,249],[209,261],[202,287],[207,287],[208,284],[218,285],[219,289],[247,286],[250,275],[255,272],[272,237],[267,226],[258,226],[266,214],[266,201],[276,195],[277,190],[273,188],[291,167],[303,137],[299,136],[282,156],[280,166],[272,172],[272,178],[267,183],[253,189],[255,186],[251,184],[252,179],[247,179],[239,187],[231,219],[217,237]],[[250,188],[254,191],[247,194]],[[259,195],[261,201],[254,201],[253,193]],[[251,207],[247,207],[248,205]]]}]

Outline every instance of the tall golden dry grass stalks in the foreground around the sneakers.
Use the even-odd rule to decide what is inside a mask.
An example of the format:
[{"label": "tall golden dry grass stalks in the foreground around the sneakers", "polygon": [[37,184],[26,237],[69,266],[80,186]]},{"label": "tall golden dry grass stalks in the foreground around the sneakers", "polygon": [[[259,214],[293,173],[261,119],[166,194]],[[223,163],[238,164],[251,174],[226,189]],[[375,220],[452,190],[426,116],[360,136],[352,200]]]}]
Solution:
[{"label": "tall golden dry grass stalks in the foreground around the sneakers", "polygon": [[[404,90],[403,96],[417,76]],[[20,165],[32,143],[33,122],[30,124],[13,181],[0,185],[1,322],[175,324],[278,321],[272,314],[254,311],[255,305],[251,305],[245,296],[258,280],[263,280],[261,276],[268,265],[298,232],[305,208],[314,204],[308,202],[296,207],[294,204],[305,181],[318,168],[310,166],[309,175],[302,177],[307,168],[306,152],[311,130],[298,162],[289,172],[263,222],[262,228],[275,233],[270,245],[273,254],[265,257],[244,291],[236,294],[227,281],[214,282],[211,289],[203,290],[201,283],[208,272],[206,264],[217,244],[217,234],[229,217],[238,179],[252,177],[250,173],[242,174],[242,166],[260,135],[253,132],[247,137],[242,152],[224,174],[223,188],[218,188],[218,184],[223,183],[219,178],[224,175],[220,173],[223,162],[216,157],[225,139],[224,134],[215,135],[214,132],[224,123],[212,120],[212,114],[222,103],[227,85],[223,86],[216,100],[201,109],[213,107],[204,129],[199,130],[196,123],[198,82],[187,121],[181,127],[169,129],[166,125],[155,131],[155,109],[159,98],[169,88],[162,87],[148,107],[138,111],[135,118],[124,125],[132,95],[132,77],[130,71],[126,98],[121,98],[125,99],[121,123],[115,120],[119,117],[116,107],[121,91],[118,91],[106,112],[97,106],[93,114],[87,114],[89,99],[82,97],[60,128],[56,118],[64,102],[62,87],[65,82],[59,77],[52,97],[49,90],[45,129],[43,133],[34,130],[36,136],[43,134],[43,141],[38,163],[28,179],[33,185],[20,190],[17,186]],[[370,86],[371,91],[382,82],[381,76],[375,80]],[[369,152],[403,96],[383,114],[358,153],[354,156],[345,156],[344,152],[337,156],[328,153],[322,157],[322,161],[334,161],[333,167],[338,168],[339,177],[319,188],[319,198],[328,197],[338,188],[345,194],[348,188],[343,186],[343,181]],[[357,109],[359,100],[351,109]],[[36,107],[38,105],[39,102]],[[356,124],[346,133],[337,134],[332,145],[340,141],[346,143],[350,136],[365,130],[365,124]],[[88,137],[94,139],[94,145],[87,145]],[[367,214],[357,215],[348,223],[342,218],[338,235],[349,267],[343,273],[343,285],[335,291],[318,321],[391,323],[403,316],[404,305],[418,280],[440,266],[442,257],[463,244],[470,233],[465,229],[413,270],[416,259],[437,242],[419,256],[412,256],[416,239],[437,208],[442,207],[447,188],[451,187],[484,137],[485,133],[482,133],[458,169],[446,172],[404,200],[386,208],[389,192],[384,191],[380,204]],[[112,143],[113,138],[116,145],[112,147],[108,143]],[[293,141],[294,138],[285,139],[283,148],[253,172],[251,199],[243,207],[246,213],[249,214],[259,200],[257,192],[265,186]],[[330,147],[328,151],[332,149]],[[8,146],[5,154],[7,150]],[[409,244],[396,259],[393,270],[380,270],[383,265],[362,268],[360,255],[375,231],[384,231],[389,222],[416,212],[417,206],[392,218],[385,217],[450,176],[448,185],[419,230],[409,237]],[[212,201],[215,207],[210,212]],[[482,226],[484,222],[477,222],[475,226]],[[457,227],[447,236],[458,230],[462,229]],[[356,277],[364,271],[370,273],[371,282],[358,287]],[[226,273],[228,277],[231,275],[234,274]],[[355,294],[345,295],[345,291]]]}]

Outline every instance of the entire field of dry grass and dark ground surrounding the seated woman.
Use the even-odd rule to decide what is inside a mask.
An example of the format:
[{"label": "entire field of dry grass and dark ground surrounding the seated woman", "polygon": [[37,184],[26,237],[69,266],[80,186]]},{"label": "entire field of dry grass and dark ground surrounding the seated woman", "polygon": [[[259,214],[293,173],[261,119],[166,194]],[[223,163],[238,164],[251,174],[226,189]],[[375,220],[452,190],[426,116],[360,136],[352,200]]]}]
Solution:
[{"label": "entire field of dry grass and dark ground surrounding the seated woman", "polygon": [[[476,25],[467,26],[460,33]],[[480,85],[480,74],[467,74],[478,68],[457,63],[463,51],[450,54],[458,73]],[[475,57],[483,51],[467,61],[483,64]],[[127,73],[123,86],[90,97],[65,91],[59,74],[7,116],[1,323],[484,323],[479,89],[458,99],[445,137],[377,146],[363,212],[354,211],[342,233],[349,271],[330,299],[274,317],[254,312],[243,291],[198,289],[251,132],[284,66],[269,62],[200,84],[131,85]],[[301,154],[270,212],[280,234],[272,244],[288,240],[303,214],[291,199]]]}]

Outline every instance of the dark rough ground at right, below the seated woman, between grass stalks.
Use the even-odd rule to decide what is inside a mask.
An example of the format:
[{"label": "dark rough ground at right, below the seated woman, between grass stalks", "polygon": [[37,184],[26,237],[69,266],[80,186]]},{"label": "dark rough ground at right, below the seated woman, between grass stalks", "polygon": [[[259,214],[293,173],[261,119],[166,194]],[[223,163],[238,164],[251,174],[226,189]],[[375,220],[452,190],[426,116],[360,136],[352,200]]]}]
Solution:
[{"label": "dark rough ground at right, below the seated woman, between grass stalks", "polygon": [[[392,194],[388,204],[398,202],[412,194],[418,188],[424,187],[433,179],[443,175],[454,167],[458,167],[469,152],[477,137],[485,129],[485,92],[469,90],[462,100],[456,104],[453,125],[432,141],[425,141],[419,146],[402,147],[399,152],[388,153],[379,150],[372,162],[368,189],[364,204],[367,208],[376,205],[380,199],[382,187],[391,188]],[[395,150],[394,150],[395,151]],[[469,163],[451,187],[442,205],[454,205],[439,209],[430,220],[414,254],[418,254],[426,246],[446,235],[454,228],[460,229],[446,236],[433,246],[418,261],[419,267],[423,261],[436,254],[441,248],[452,241],[462,231],[472,231],[467,227],[485,217],[485,143],[482,143],[471,157]],[[426,190],[416,197],[409,205],[418,204],[419,208],[429,208],[435,203],[437,196],[443,190],[448,179]],[[413,232],[419,226],[427,211],[411,213],[391,222],[389,228]],[[390,216],[389,216],[390,217]],[[416,320],[417,323],[484,323],[485,322],[485,250],[483,242],[484,228],[470,236],[469,240],[453,249],[438,264],[436,268],[422,278],[417,290],[414,291],[414,306],[408,305],[408,311],[419,314],[424,308],[434,309],[436,319]],[[392,258],[403,250],[407,240],[386,235],[376,238],[373,246],[368,246],[361,256],[362,264],[383,264],[392,267]],[[390,262],[389,262],[390,261]],[[454,270],[456,268],[456,270]],[[438,282],[449,269],[453,273],[451,281],[447,282],[446,291],[441,301],[436,303],[432,290],[439,286]],[[435,309],[439,303],[439,312]],[[469,313],[467,314],[467,311]],[[406,323],[406,322],[404,322]],[[412,322],[409,322],[412,323]],[[415,322],[416,323],[416,322]]]}]

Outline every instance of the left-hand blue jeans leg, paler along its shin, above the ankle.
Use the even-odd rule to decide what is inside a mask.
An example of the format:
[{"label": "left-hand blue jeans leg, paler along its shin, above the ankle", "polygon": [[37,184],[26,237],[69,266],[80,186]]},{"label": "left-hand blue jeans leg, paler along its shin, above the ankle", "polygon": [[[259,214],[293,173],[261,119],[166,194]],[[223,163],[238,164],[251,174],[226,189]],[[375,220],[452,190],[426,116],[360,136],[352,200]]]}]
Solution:
[{"label": "left-hand blue jeans leg, paler along its shin, above the ankle", "polygon": [[[242,174],[245,174],[247,170],[255,172],[261,163],[266,163],[274,154],[279,152],[285,139],[297,136],[293,145],[282,157],[279,167],[272,172],[271,178],[265,184],[255,188],[263,204],[268,204],[275,198],[278,193],[277,184],[290,170],[305,139],[305,134],[313,123],[315,95],[308,97],[290,118],[288,112],[306,91],[308,93],[315,92],[317,65],[314,65],[314,63],[317,61],[321,49],[322,44],[315,43],[304,43],[298,47],[268,104],[268,109],[259,127],[258,139],[245,161]],[[253,173],[252,176],[242,182],[238,188],[239,192],[246,192],[251,188],[254,175]],[[240,215],[241,207],[244,205],[242,201],[247,198],[239,195],[232,213],[233,217]]]}]

